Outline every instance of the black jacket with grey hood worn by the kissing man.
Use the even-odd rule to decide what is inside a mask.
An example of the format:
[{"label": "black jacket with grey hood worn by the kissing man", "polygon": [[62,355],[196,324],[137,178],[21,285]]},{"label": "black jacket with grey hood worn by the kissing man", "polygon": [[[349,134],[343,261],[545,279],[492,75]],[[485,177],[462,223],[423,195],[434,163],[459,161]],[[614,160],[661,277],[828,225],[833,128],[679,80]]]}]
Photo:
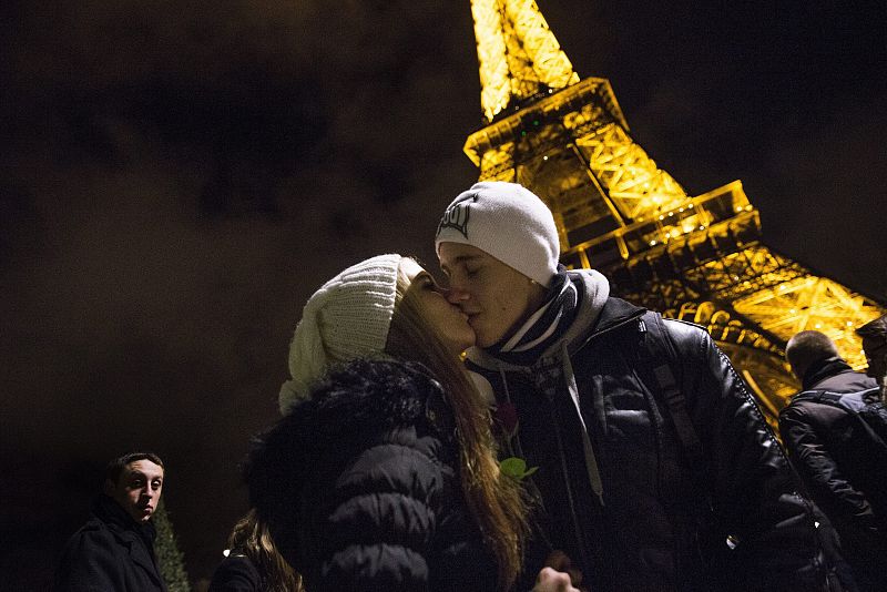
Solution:
[{"label": "black jacket with grey hood worn by the kissing man", "polygon": [[[818,590],[810,509],[708,334],[609,297],[597,272],[569,278],[580,288],[577,316],[534,364],[469,351],[469,368],[517,410],[510,445],[538,468],[531,480],[550,548],[567,552],[595,592]],[[644,326],[659,321],[701,455],[682,446],[642,360]],[[543,375],[553,395],[540,388]]]}]

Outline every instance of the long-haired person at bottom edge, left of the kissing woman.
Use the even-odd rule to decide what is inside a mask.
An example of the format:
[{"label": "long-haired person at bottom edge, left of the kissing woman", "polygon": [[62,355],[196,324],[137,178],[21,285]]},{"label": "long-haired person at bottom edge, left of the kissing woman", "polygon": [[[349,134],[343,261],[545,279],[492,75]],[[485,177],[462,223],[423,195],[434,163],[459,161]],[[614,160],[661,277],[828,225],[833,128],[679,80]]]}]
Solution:
[{"label": "long-haired person at bottom edge, left of the kissing woman", "polygon": [[255,510],[228,537],[228,554],[213,573],[208,592],[304,592],[302,576],[281,557]]}]

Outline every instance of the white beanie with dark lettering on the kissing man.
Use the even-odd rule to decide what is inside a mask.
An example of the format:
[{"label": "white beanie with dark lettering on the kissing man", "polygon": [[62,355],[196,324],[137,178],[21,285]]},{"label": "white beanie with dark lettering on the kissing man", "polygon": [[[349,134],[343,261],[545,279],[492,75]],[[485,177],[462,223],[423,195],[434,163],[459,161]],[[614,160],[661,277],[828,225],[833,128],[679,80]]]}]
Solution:
[{"label": "white beanie with dark lettering on the kissing man", "polygon": [[460,193],[438,224],[438,255],[447,242],[477,247],[544,287],[558,273],[554,217],[542,200],[516,183],[482,181]]}]

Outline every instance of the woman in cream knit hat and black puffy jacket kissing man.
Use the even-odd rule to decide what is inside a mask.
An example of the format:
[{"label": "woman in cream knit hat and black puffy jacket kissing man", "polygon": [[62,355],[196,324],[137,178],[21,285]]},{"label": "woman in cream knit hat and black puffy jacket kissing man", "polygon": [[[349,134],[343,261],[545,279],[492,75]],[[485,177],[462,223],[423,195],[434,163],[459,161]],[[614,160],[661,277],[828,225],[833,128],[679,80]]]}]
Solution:
[{"label": "woman in cream knit hat and black puffy jacket kissing man", "polygon": [[467,317],[414,259],[345,269],[307,302],[284,418],[256,438],[252,504],[309,592],[509,590],[527,535]]}]

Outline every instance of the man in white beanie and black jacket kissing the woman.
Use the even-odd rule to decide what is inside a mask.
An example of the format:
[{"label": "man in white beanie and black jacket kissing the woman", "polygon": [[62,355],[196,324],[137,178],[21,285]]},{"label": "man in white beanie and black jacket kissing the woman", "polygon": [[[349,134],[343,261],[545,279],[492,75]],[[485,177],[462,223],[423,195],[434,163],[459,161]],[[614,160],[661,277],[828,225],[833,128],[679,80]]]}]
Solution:
[{"label": "man in white beanie and black jacket kissing the woman", "polygon": [[825,590],[810,504],[702,328],[559,264],[546,204],[480,182],[436,249],[499,432],[538,499],[534,540],[606,591]]}]

